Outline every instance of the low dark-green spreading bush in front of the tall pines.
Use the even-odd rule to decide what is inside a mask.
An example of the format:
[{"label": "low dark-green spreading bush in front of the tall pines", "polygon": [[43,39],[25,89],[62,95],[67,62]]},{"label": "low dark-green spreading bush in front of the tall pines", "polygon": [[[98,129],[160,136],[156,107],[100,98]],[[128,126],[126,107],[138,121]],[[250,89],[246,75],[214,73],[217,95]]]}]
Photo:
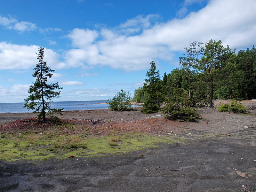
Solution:
[{"label": "low dark-green spreading bush in front of the tall pines", "polygon": [[179,121],[196,121],[200,117],[194,108],[172,103],[165,105],[162,112],[165,118]]}]

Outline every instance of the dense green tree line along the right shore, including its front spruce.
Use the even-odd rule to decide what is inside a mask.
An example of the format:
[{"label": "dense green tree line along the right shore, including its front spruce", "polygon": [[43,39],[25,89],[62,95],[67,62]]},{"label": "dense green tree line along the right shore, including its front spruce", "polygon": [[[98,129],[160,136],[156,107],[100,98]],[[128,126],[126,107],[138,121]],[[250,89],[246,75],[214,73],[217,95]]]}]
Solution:
[{"label": "dense green tree line along the right shore, including its front spruce", "polygon": [[143,87],[135,90],[133,102],[142,102],[144,113],[160,110],[163,102],[190,107],[213,107],[215,99],[256,98],[256,49],[224,47],[222,41],[204,45],[193,42],[179,58],[180,68],[160,78],[154,61],[150,63]]}]

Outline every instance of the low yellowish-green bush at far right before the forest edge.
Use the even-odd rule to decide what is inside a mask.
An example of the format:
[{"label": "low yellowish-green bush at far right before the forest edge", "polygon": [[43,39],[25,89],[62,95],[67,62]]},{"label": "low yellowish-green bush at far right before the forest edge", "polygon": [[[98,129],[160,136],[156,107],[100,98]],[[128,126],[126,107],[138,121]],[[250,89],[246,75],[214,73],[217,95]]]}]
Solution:
[{"label": "low yellowish-green bush at far right before the forest edge", "polygon": [[220,103],[218,111],[223,112],[223,111],[229,111],[233,113],[247,113],[248,108],[244,107],[244,105],[238,101],[231,101],[228,104],[222,104]]}]

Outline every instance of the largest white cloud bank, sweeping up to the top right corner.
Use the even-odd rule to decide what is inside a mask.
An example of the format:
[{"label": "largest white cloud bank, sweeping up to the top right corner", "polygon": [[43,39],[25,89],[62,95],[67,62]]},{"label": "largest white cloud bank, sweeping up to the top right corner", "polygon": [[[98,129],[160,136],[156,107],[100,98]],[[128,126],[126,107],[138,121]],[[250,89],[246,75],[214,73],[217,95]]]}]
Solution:
[{"label": "largest white cloud bank, sweeping up to the top right corner", "polygon": [[[200,1],[186,4],[195,2]],[[132,71],[147,69],[152,60],[172,63],[173,52],[184,51],[193,41],[212,38],[233,48],[251,46],[256,40],[255,9],[254,0],[211,0],[183,19],[152,25],[149,18],[153,16],[138,16],[112,29],[74,29],[68,35],[74,49],[66,52],[65,63],[68,67],[107,65]],[[140,34],[127,35],[140,29]]]}]

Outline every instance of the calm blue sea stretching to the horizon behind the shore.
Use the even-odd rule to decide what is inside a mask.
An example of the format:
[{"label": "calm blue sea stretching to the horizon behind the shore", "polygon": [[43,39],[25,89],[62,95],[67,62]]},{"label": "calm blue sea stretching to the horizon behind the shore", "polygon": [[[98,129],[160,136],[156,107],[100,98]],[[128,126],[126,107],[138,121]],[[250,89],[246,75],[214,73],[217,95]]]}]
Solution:
[{"label": "calm blue sea stretching to the horizon behind the shore", "polygon": [[[92,110],[92,109],[107,109],[108,100],[96,101],[55,101],[51,103],[51,108],[61,109],[63,111],[69,110]],[[34,112],[24,108],[24,103],[0,103],[0,113],[27,113]],[[133,107],[140,107],[133,105]]]}]

